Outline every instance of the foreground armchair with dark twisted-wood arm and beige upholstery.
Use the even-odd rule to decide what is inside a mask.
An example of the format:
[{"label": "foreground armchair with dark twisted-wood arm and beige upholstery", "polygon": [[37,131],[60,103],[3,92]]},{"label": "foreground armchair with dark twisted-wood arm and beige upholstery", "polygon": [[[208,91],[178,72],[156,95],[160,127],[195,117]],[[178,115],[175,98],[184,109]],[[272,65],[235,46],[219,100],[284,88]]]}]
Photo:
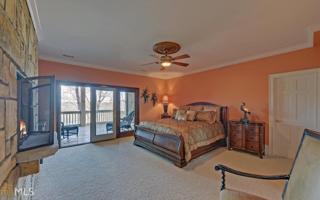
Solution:
[{"label": "foreground armchair with dark twisted-wood arm and beige upholstery", "polygon": [[286,179],[282,192],[282,199],[319,199],[320,196],[320,133],[304,129],[302,139],[295,155],[289,174],[284,175],[257,175],[245,173],[226,167],[215,165],[215,170],[221,170],[222,199],[265,199],[253,194],[225,188],[225,171],[252,178],[260,179]]}]

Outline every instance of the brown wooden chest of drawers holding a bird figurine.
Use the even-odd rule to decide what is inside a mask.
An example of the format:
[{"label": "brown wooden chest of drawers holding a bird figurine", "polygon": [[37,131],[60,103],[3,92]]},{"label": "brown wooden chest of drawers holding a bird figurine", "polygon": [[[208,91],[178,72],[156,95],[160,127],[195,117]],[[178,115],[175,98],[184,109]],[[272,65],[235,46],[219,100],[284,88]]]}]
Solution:
[{"label": "brown wooden chest of drawers holding a bird figurine", "polygon": [[264,155],[264,122],[228,120],[228,150],[242,149]]}]

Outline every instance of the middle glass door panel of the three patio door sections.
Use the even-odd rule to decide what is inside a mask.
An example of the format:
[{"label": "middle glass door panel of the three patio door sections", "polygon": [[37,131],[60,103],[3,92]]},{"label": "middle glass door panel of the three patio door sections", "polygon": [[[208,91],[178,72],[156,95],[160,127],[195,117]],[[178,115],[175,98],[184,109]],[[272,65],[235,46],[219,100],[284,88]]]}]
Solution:
[{"label": "middle glass door panel of the three patio door sections", "polygon": [[114,139],[115,88],[91,88],[91,142]]}]

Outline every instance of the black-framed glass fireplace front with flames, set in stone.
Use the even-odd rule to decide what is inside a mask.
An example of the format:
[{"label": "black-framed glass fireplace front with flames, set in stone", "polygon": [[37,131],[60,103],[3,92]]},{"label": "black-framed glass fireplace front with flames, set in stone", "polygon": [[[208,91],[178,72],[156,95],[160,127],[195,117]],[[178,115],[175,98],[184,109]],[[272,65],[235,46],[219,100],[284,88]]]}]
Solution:
[{"label": "black-framed glass fireplace front with flames, set in stone", "polygon": [[53,144],[54,76],[17,80],[18,152]]}]

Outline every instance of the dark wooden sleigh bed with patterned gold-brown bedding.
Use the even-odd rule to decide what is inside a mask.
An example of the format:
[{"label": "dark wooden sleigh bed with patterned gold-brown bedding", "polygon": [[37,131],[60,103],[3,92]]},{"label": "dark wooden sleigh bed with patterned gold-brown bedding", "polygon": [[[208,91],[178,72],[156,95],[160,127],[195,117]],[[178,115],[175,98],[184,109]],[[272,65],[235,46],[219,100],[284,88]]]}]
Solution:
[{"label": "dark wooden sleigh bed with patterned gold-brown bedding", "polygon": [[[203,107],[215,107],[216,104],[208,103],[208,102],[194,102],[190,103],[186,106],[201,106]],[[195,144],[189,145],[186,140],[190,140],[188,137],[189,133],[181,132],[181,134],[176,133],[168,133],[171,131],[170,124],[178,124],[176,129],[185,131],[187,126],[190,124],[193,128],[193,132],[203,133],[203,128],[201,122],[203,121],[183,121],[182,124],[179,124],[178,121],[174,118],[163,118],[163,119],[150,119],[146,121],[141,121],[139,125],[134,125],[134,141],[133,144],[137,146],[142,146],[158,155],[161,155],[174,163],[174,165],[178,167],[183,167],[193,158],[196,158],[210,150],[213,150],[220,146],[226,146],[226,106],[221,106],[219,108],[219,116],[218,122],[213,122],[209,124],[208,122],[205,125],[211,125],[208,127],[212,127],[212,129],[217,129],[211,132],[210,134],[215,134],[215,131],[219,131],[216,133],[217,135],[211,135],[212,138],[205,138],[205,141],[199,141]],[[216,111],[216,110],[215,110]],[[200,111],[197,111],[200,112]],[[160,124],[160,127],[157,127],[154,124]],[[143,127],[142,127],[143,126]],[[157,127],[157,128],[152,128]],[[208,127],[205,127],[208,129]],[[194,129],[200,128],[200,129]],[[202,128],[202,129],[201,129]],[[204,129],[205,129],[204,128]],[[155,130],[154,130],[155,129]],[[161,130],[161,131],[156,131]],[[197,135],[193,136],[197,137]],[[201,137],[206,137],[201,136]],[[209,144],[208,144],[209,143]],[[186,147],[187,148],[186,148]],[[190,146],[193,148],[190,148]],[[190,150],[191,149],[191,150]]]}]

